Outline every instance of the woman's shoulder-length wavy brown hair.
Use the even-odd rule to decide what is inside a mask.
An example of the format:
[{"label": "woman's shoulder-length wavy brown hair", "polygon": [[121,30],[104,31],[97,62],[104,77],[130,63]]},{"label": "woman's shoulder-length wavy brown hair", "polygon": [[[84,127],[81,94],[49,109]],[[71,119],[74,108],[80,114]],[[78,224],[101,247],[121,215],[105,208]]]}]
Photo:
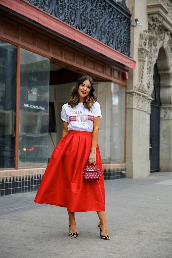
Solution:
[{"label": "woman's shoulder-length wavy brown hair", "polygon": [[[80,77],[77,80],[76,85],[72,88],[72,90],[70,92],[70,99],[69,99],[69,101],[67,103],[72,108],[76,107],[77,104],[79,103],[78,88],[79,88],[79,85],[82,84],[85,80],[89,80],[90,81],[91,89],[90,89],[90,92],[89,92],[90,101],[89,102],[84,101],[83,102],[84,107],[90,110],[92,108],[92,106],[93,106],[93,103],[97,101],[97,96],[94,93],[95,86],[94,86],[93,79],[90,76],[88,76],[88,75],[83,75],[82,77]],[[85,99],[86,99],[86,97],[85,97]]]}]

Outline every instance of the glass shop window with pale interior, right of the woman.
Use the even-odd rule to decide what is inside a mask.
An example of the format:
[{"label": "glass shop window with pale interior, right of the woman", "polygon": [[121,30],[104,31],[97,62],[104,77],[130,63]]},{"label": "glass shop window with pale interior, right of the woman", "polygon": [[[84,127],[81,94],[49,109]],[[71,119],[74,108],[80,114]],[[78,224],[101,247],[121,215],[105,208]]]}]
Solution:
[{"label": "glass shop window with pale interior, right of the woman", "polygon": [[99,133],[102,162],[123,162],[125,88],[111,82],[97,82],[95,87],[102,112]]}]

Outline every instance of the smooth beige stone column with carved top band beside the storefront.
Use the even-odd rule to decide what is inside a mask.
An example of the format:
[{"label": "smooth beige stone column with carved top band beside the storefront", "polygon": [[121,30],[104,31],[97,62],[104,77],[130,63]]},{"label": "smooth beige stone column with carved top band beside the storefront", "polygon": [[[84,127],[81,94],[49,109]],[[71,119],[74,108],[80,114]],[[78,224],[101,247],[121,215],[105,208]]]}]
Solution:
[{"label": "smooth beige stone column with carved top band beside the storefront", "polygon": [[149,96],[142,92],[127,91],[126,177],[150,174],[150,101]]}]

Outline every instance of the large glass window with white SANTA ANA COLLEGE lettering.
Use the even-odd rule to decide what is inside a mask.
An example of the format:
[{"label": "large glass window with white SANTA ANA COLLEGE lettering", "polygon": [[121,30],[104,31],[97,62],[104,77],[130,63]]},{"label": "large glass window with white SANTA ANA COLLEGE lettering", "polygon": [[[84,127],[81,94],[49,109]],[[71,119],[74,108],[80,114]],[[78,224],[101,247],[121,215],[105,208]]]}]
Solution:
[{"label": "large glass window with white SANTA ANA COLLEGE lettering", "polygon": [[19,167],[47,165],[49,59],[21,49]]}]

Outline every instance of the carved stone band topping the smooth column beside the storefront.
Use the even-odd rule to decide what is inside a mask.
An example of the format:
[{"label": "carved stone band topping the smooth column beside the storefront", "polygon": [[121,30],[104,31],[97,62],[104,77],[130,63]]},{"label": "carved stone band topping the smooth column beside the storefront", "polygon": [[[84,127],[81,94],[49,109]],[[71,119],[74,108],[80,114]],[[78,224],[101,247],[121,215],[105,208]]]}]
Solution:
[{"label": "carved stone band topping the smooth column beside the storefront", "polygon": [[127,91],[127,108],[135,108],[150,113],[151,98],[139,91]]}]

